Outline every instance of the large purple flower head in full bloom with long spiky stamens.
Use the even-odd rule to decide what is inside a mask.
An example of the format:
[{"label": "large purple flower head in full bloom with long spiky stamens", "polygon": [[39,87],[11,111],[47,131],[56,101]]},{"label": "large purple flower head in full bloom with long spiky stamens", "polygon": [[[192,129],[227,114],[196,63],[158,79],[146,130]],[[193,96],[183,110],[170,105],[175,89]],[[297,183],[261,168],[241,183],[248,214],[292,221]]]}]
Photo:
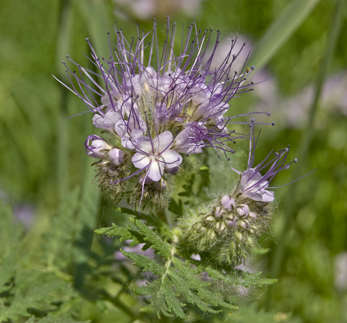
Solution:
[{"label": "large purple flower head in full bloom with long spiky stamens", "polygon": [[[211,66],[219,30],[212,42],[212,30],[191,25],[185,38],[183,29],[180,48],[175,50],[176,27],[170,27],[169,19],[162,47],[156,23],[152,33],[138,31],[137,40],[130,43],[121,30],[115,27],[115,31],[109,59],[100,59],[87,38],[97,72],[70,58],[78,72],[63,63],[69,89],[94,113],[93,124],[103,132],[103,137],[93,134],[85,142],[87,154],[98,158],[99,183],[118,197],[130,190],[139,202],[165,191],[168,177],[179,172],[186,156],[206,147],[218,155],[234,153],[230,143],[244,136],[228,129],[232,118],[224,115],[230,99],[252,90],[248,87],[253,83],[246,82],[249,68],[232,70],[240,52],[234,53],[236,38],[222,64]],[[212,54],[206,57],[211,43]]]}]

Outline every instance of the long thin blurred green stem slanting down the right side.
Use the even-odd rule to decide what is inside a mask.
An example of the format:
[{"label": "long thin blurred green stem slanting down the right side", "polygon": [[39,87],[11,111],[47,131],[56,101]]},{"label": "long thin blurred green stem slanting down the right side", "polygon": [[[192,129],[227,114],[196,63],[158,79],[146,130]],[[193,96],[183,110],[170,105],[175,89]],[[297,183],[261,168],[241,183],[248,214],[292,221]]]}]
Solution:
[{"label": "long thin blurred green stem slanting down the right side", "polygon": [[[301,144],[299,145],[297,155],[299,163],[296,164],[295,167],[293,167],[293,180],[302,175],[305,160],[307,159],[308,150],[310,148],[314,134],[313,121],[317,111],[318,101],[320,98],[323,82],[327,74],[327,69],[335,51],[336,43],[341,29],[340,27],[343,17],[344,2],[345,0],[337,0],[335,8],[332,12],[330,26],[328,30],[328,37],[325,44],[325,50],[322,56],[318,76],[315,82],[314,99],[309,110],[309,120],[306,131],[302,135]],[[278,240],[278,245],[273,253],[271,277],[278,277],[282,267],[283,255],[285,252],[285,244],[287,241],[287,232],[289,231],[289,226],[291,225],[295,217],[296,205],[293,202],[295,201],[295,194],[297,192],[298,187],[297,185],[299,185],[298,182],[290,184],[290,186],[287,189],[286,200],[283,202],[282,207],[285,210],[286,217],[285,223],[281,230],[280,238]],[[268,298],[271,298],[270,290],[271,288],[269,288]]]}]

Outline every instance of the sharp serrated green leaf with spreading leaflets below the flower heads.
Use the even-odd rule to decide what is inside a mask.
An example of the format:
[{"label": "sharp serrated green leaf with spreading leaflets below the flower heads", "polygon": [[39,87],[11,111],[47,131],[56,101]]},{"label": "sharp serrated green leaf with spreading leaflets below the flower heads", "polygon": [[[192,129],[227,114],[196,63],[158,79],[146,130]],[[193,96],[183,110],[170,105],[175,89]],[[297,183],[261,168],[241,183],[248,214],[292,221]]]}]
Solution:
[{"label": "sharp serrated green leaf with spreading leaflets below the flower heads", "polygon": [[[144,312],[156,313],[158,316],[160,313],[165,316],[174,314],[185,318],[184,308],[187,303],[204,312],[218,313],[222,307],[233,311],[238,307],[229,303],[230,296],[224,299],[225,296],[221,294],[221,291],[211,288],[218,281],[243,287],[263,287],[276,281],[276,279],[262,278],[260,273],[223,274],[206,265],[195,267],[189,259],[180,257],[180,246],[175,242],[169,243],[163,240],[154,229],[150,229],[139,219],[130,218],[130,220],[139,230],[112,224],[112,227],[100,228],[95,232],[109,237],[120,236],[121,241],[133,239],[130,246],[145,242],[144,250],[149,247],[155,250],[154,259],[122,250],[122,254],[133,260],[134,264],[141,267],[144,272],[150,271],[158,276],[154,281],[147,282],[146,286],[138,287],[136,283],[133,286],[136,294],[150,296],[146,300],[149,304],[142,308]],[[203,279],[204,272],[208,273],[209,279]]]}]

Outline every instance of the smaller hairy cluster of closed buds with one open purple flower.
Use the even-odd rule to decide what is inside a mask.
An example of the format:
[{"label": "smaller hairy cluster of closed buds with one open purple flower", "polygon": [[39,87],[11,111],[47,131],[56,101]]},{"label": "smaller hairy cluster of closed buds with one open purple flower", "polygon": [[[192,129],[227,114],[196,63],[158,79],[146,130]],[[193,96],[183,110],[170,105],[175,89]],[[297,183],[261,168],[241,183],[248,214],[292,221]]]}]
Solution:
[{"label": "smaller hairy cluster of closed buds with one open purple flower", "polygon": [[[197,252],[201,255],[213,253],[219,262],[237,264],[257,246],[260,233],[266,230],[271,220],[268,202],[274,200],[274,193],[267,190],[269,183],[277,173],[297,161],[295,158],[286,164],[288,146],[279,152],[272,150],[259,165],[253,167],[253,124],[251,129],[248,166],[244,172],[233,169],[240,175],[233,193],[219,196],[214,206],[200,208],[200,212],[197,209],[187,210],[180,223],[185,238]],[[261,175],[262,171],[264,175]]]}]

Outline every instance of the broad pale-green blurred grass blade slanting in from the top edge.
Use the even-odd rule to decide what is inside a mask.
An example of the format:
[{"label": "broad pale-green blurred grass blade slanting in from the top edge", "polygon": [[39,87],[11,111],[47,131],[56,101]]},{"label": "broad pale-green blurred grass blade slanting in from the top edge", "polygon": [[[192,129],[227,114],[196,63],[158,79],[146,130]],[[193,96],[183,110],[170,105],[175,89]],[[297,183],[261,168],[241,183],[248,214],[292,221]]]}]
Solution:
[{"label": "broad pale-green blurred grass blade slanting in from the top edge", "polygon": [[271,23],[252,51],[249,66],[264,67],[302,25],[320,0],[293,0]]}]

